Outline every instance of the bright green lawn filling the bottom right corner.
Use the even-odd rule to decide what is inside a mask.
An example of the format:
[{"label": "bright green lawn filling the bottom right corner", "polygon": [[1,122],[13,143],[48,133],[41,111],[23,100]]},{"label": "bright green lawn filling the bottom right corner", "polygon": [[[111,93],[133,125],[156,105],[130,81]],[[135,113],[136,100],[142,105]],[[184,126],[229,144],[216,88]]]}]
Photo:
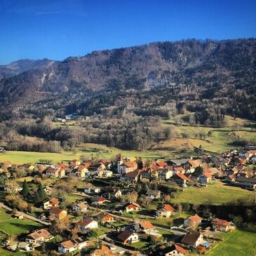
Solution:
[{"label": "bright green lawn filling the bottom right corner", "polygon": [[256,230],[236,229],[234,233],[221,235],[223,242],[208,253],[208,256],[253,256],[256,255]]}]

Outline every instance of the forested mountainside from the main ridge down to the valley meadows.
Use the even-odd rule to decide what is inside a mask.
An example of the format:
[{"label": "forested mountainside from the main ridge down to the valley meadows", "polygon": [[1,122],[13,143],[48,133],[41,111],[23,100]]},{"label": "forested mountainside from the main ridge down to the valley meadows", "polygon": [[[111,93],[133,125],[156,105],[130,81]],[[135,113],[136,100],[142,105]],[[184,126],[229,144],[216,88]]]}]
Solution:
[{"label": "forested mountainside from the main ridge down to the valley meadows", "polygon": [[[168,137],[163,118],[186,111],[207,127],[224,127],[227,114],[256,120],[256,39],[156,42],[16,69],[0,80],[2,133],[145,149]],[[98,117],[79,133],[38,128],[72,113]]]}]

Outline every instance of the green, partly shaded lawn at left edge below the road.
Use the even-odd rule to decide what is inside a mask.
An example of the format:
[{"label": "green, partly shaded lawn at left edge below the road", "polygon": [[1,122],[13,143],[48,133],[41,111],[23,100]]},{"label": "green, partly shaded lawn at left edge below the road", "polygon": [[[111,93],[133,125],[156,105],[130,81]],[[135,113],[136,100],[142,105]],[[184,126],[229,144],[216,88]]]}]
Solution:
[{"label": "green, partly shaded lawn at left edge below the road", "polygon": [[32,220],[18,220],[8,215],[5,210],[0,208],[0,230],[6,234],[18,235],[28,233],[34,229],[39,229],[41,224]]}]

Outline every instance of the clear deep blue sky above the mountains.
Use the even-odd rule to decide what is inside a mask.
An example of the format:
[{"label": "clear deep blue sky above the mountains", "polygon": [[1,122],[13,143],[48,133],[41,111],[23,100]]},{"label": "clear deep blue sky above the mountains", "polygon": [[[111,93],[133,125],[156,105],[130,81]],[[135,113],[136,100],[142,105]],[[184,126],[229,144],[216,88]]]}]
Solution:
[{"label": "clear deep blue sky above the mountains", "polygon": [[256,37],[256,0],[0,0],[0,64],[180,39]]}]

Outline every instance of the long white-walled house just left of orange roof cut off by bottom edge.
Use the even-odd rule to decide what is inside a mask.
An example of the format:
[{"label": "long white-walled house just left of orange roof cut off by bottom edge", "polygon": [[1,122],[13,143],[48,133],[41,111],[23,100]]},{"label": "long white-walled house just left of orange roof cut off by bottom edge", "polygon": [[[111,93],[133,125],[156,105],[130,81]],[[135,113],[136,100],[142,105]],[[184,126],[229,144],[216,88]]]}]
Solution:
[{"label": "long white-walled house just left of orange roof cut off by bottom edge", "polygon": [[87,241],[83,236],[72,239],[69,241],[62,242],[58,245],[58,252],[68,253],[74,250],[81,250],[82,248],[94,245],[92,241]]}]

